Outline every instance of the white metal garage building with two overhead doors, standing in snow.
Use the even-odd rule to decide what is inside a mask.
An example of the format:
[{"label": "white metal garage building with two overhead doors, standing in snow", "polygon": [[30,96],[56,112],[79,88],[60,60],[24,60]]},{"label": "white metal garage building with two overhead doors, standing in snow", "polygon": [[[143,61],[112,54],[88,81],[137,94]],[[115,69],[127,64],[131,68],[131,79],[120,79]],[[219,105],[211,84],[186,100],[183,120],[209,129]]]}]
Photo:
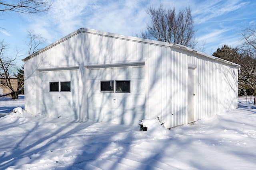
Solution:
[{"label": "white metal garage building with two overhead doors, standing in snow", "polygon": [[240,66],[182,45],[81,28],[23,61],[35,115],[170,128],[237,108]]}]

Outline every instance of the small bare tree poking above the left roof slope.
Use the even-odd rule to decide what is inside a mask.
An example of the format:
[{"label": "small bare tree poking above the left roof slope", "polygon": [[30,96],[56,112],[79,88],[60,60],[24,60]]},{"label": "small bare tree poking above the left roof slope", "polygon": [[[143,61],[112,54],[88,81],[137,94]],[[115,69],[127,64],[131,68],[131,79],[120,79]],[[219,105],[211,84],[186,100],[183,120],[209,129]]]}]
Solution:
[{"label": "small bare tree poking above the left roof slope", "polygon": [[46,39],[42,35],[36,34],[33,29],[29,29],[27,32],[29,41],[26,42],[26,45],[28,45],[28,55],[31,55],[40,50],[40,45],[46,42]]}]

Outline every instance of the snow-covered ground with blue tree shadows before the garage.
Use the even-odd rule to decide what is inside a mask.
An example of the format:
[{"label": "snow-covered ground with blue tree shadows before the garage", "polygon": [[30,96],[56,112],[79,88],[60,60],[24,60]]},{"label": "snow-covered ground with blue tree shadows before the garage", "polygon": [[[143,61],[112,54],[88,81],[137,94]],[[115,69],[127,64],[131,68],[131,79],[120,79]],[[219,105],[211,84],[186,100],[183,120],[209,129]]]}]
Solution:
[{"label": "snow-covered ground with blue tree shadows before the garage", "polygon": [[256,106],[238,103],[238,109],[194,125],[167,130],[154,124],[148,131],[139,131],[139,125],[34,117],[17,107],[0,117],[0,169],[252,170]]}]

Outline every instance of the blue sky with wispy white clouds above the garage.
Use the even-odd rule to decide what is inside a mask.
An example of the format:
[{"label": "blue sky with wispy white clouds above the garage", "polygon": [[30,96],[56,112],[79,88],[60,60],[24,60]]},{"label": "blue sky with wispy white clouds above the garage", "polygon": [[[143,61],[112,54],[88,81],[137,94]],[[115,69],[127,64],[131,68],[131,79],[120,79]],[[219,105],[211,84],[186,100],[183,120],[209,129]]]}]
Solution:
[{"label": "blue sky with wispy white clouds above the garage", "polygon": [[[6,0],[9,1],[9,0]],[[6,12],[0,16],[0,41],[20,49],[26,57],[27,30],[47,39],[45,47],[80,27],[135,36],[150,22],[146,8],[160,3],[176,12],[190,6],[198,39],[195,49],[208,54],[226,44],[236,46],[245,27],[256,23],[254,0],[53,0],[52,8],[39,15]]]}]

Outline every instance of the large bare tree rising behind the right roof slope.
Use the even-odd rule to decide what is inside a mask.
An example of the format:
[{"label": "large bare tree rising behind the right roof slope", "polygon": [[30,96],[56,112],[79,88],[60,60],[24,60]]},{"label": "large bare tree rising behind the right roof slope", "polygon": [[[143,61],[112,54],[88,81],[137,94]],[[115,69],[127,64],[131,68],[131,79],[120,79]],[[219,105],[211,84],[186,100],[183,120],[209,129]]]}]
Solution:
[{"label": "large bare tree rising behind the right roof slope", "polygon": [[168,43],[175,43],[194,48],[197,41],[194,37],[194,21],[190,8],[182,10],[176,15],[175,8],[164,9],[160,7],[147,8],[151,23],[147,23],[147,30],[142,32],[142,38],[156,39]]}]

